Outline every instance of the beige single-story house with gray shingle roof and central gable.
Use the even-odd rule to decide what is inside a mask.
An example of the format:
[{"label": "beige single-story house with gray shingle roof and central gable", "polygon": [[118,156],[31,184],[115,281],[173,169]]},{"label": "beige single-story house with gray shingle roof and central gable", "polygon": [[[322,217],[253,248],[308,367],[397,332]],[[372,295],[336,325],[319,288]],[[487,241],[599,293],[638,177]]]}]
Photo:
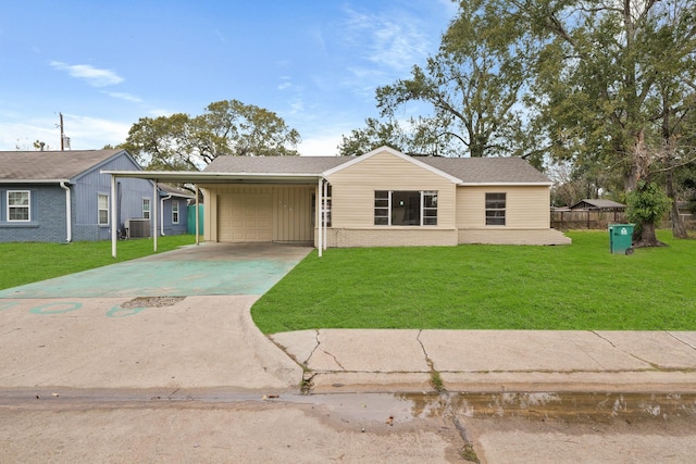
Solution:
[{"label": "beige single-story house with gray shingle roof and central gable", "polygon": [[220,156],[198,173],[204,239],[314,247],[566,244],[551,183],[518,158]]}]

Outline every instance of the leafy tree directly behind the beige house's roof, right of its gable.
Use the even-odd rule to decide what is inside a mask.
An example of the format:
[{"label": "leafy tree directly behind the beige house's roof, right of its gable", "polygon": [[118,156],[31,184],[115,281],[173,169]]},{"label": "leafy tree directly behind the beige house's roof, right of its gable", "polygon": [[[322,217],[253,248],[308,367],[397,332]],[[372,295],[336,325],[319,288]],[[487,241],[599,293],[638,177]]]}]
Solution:
[{"label": "leafy tree directly behind the beige house's roof, right of its gable", "polygon": [[407,102],[427,102],[434,110],[431,137],[463,143],[460,155],[511,154],[512,141],[523,134],[515,108],[533,45],[515,26],[489,14],[486,0],[461,1],[425,68],[415,65],[410,78],[377,88],[382,115],[393,117]]}]

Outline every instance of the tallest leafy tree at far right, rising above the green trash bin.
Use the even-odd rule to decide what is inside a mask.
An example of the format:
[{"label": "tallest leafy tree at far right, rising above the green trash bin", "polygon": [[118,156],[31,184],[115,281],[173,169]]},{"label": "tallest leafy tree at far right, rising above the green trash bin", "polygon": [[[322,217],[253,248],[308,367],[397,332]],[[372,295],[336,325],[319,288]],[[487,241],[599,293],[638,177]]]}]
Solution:
[{"label": "tallest leafy tree at far right, rising above the green trash bin", "polygon": [[[626,191],[650,185],[661,145],[660,79],[693,63],[693,0],[493,0],[497,15],[527,24],[542,46],[533,104],[555,159],[601,166]],[[693,67],[693,66],[692,66]],[[662,108],[678,108],[676,93]],[[648,217],[644,216],[646,221]],[[639,227],[656,242],[655,224]],[[650,236],[651,235],[651,236]]]}]

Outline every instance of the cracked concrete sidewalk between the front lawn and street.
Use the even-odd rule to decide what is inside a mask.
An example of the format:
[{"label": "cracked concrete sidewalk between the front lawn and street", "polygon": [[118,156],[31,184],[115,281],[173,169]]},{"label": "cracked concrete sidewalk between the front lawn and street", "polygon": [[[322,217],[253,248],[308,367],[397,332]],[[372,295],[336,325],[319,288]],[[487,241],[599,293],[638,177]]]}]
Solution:
[{"label": "cracked concrete sidewalk between the front lawn and street", "polygon": [[339,330],[271,339],[311,391],[696,392],[694,331]]}]

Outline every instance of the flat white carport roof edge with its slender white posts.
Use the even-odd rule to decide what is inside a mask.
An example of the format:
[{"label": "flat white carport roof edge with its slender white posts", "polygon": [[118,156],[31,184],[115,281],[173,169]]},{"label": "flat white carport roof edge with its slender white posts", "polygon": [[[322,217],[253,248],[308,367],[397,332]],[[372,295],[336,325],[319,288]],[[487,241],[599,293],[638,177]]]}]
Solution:
[{"label": "flat white carport roof edge with its slender white posts", "polygon": [[[316,240],[316,248],[319,250],[319,256],[321,258],[322,251],[326,249],[326,211],[327,211],[327,188],[328,183],[321,174],[297,174],[297,173],[217,173],[217,172],[172,172],[172,171],[102,171],[102,174],[109,174],[111,176],[111,254],[116,256],[116,242],[117,242],[117,216],[116,216],[116,179],[120,177],[130,177],[147,179],[153,183],[153,198],[157,198],[157,184],[173,183],[173,184],[192,184],[196,190],[196,243],[200,243],[200,233],[198,228],[198,205],[199,205],[199,186],[200,185],[283,185],[283,186],[298,186],[298,185],[316,185],[316,200],[315,200],[315,224],[319,225],[319,234]],[[158,230],[158,202],[152,203],[152,221],[153,230]],[[158,234],[153,234],[153,247],[157,251]]]}]

